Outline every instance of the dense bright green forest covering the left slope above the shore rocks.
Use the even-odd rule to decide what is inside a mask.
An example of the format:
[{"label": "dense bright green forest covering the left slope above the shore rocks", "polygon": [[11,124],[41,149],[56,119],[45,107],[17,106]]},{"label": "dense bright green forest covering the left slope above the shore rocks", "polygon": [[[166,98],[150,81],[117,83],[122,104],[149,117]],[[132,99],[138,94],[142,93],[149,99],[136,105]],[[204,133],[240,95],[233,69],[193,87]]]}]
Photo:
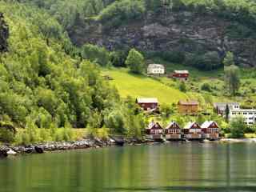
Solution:
[{"label": "dense bright green forest covering the left slope above the shore rocks", "polygon": [[[27,128],[18,142],[68,140],[71,127],[107,126],[126,134],[141,129],[134,101],[123,102],[96,63],[67,54],[73,46],[50,14],[18,2],[0,2],[0,12],[10,30],[0,58],[0,121]],[[58,127],[65,127],[61,135],[54,134]],[[47,136],[37,128],[53,131]]]}]

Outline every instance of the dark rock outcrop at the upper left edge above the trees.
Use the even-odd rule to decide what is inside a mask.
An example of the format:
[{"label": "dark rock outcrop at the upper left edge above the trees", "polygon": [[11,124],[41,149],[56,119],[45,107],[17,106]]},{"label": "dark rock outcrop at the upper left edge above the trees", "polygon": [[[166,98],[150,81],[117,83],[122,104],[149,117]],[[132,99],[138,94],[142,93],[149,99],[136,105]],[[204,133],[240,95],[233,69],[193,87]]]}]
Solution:
[{"label": "dark rock outcrop at the upper left edge above the trees", "polygon": [[7,39],[9,37],[9,28],[4,21],[3,14],[0,13],[0,53],[7,50]]}]

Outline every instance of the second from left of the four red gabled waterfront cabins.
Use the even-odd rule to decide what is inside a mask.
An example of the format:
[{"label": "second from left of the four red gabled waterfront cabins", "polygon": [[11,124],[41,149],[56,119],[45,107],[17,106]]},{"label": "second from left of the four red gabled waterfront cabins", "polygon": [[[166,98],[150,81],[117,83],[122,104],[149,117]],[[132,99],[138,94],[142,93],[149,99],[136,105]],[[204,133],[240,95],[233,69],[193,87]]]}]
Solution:
[{"label": "second from left of the four red gabled waterfront cabins", "polygon": [[177,122],[170,122],[165,129],[167,140],[179,140],[182,138],[182,130]]}]

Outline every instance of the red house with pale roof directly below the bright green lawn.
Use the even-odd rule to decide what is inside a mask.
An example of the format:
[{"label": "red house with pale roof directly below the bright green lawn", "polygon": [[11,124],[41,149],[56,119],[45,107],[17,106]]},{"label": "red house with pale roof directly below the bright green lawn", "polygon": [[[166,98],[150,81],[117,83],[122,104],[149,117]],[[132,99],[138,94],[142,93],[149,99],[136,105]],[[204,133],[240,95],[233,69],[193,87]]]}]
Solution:
[{"label": "red house with pale roof directly below the bright green lawn", "polygon": [[142,107],[143,110],[157,111],[158,98],[137,98],[136,103]]}]

